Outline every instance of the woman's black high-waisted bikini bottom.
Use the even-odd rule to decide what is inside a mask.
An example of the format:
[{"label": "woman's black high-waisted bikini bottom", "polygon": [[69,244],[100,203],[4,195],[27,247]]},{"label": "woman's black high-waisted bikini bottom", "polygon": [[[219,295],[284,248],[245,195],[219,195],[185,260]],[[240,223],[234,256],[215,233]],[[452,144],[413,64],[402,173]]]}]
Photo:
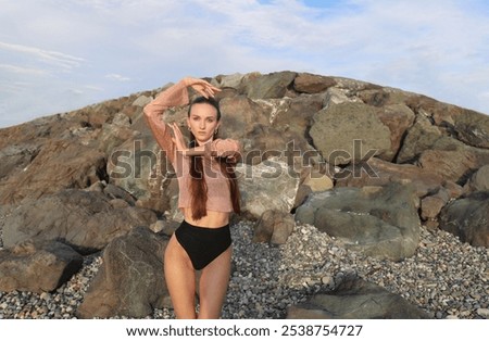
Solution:
[{"label": "woman's black high-waisted bikini bottom", "polygon": [[229,224],[209,228],[193,226],[184,220],[176,229],[175,237],[196,270],[204,268],[231,244]]}]

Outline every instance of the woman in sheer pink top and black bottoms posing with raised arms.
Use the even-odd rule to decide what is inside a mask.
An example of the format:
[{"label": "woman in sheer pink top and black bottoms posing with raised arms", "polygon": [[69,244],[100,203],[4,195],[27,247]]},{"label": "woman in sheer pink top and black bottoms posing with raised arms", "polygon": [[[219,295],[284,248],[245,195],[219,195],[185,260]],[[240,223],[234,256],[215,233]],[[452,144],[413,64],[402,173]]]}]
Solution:
[{"label": "woman in sheer pink top and black bottoms posing with raised arms", "polygon": [[[202,96],[188,111],[190,148],[175,123],[168,126],[161,119],[167,108],[189,103],[188,87]],[[217,91],[218,88],[203,79],[187,77],[145,106],[147,123],[177,174],[178,207],[185,217],[164,255],[166,285],[177,318],[218,318],[229,281],[229,216],[231,212],[239,213],[239,190],[234,174],[239,143],[215,139],[221,125],[221,112],[214,99]],[[198,315],[196,270],[202,270]]]}]

